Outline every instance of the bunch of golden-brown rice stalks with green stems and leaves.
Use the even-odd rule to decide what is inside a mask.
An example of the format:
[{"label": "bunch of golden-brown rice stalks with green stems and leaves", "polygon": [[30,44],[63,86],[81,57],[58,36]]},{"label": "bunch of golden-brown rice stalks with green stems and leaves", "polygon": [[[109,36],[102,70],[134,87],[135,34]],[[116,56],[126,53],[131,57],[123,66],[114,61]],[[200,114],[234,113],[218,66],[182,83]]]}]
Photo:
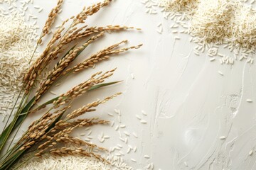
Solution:
[{"label": "bunch of golden-brown rice stalks with green stems and leaves", "polygon": [[[112,98],[119,96],[121,93],[114,94],[110,97],[97,100],[92,103],[87,103],[81,108],[70,111],[73,101],[86,94],[88,91],[102,88],[104,86],[110,86],[116,84],[119,81],[110,83],[104,83],[106,79],[112,77],[116,69],[111,69],[107,72],[97,72],[92,74],[86,81],[74,86],[69,91],[61,94],[60,96],[46,101],[43,105],[35,107],[36,103],[42,99],[42,96],[46,94],[51,86],[55,82],[63,81],[63,77],[71,74],[82,72],[87,68],[93,67],[95,63],[107,60],[112,55],[119,55],[122,52],[127,52],[131,49],[138,49],[142,45],[117,48],[119,45],[127,42],[123,40],[109,47],[105,47],[103,50],[87,57],[82,62],[76,64],[74,67],[68,69],[68,66],[81,55],[83,50],[86,50],[91,43],[95,43],[98,38],[104,35],[105,31],[114,30],[127,30],[134,29],[127,26],[105,26],[105,27],[90,27],[84,25],[86,19],[89,16],[100,11],[100,8],[110,4],[111,0],[105,0],[101,3],[94,4],[87,8],[83,8],[77,16],[72,16],[62,23],[60,28],[55,31],[52,38],[46,45],[45,50],[38,57],[38,59],[32,64],[31,68],[23,78],[23,94],[18,110],[14,115],[14,120],[4,129],[4,132],[0,136],[0,151],[5,146],[6,141],[9,139],[11,132],[18,133],[24,120],[26,120],[28,114],[37,113],[42,108],[48,107],[41,118],[33,121],[28,127],[28,130],[23,133],[22,137],[16,142],[14,147],[9,148],[14,138],[12,138],[7,152],[0,158],[0,170],[10,169],[23,154],[33,152],[34,157],[42,157],[44,154],[51,154],[53,156],[65,156],[65,155],[80,155],[86,157],[95,157],[96,159],[106,162],[100,154],[95,154],[94,149],[99,149],[105,152],[106,149],[98,147],[97,145],[90,144],[81,140],[78,137],[73,137],[72,132],[76,128],[88,127],[92,125],[107,125],[107,120],[100,120],[96,116],[93,118],[80,118],[85,113],[96,111],[97,106],[110,101]],[[53,25],[55,17],[57,16],[60,6],[62,6],[63,0],[59,0],[57,6],[53,8],[48,16],[46,25],[42,30],[42,34],[37,42],[37,46],[43,42],[43,38],[48,35],[50,26]],[[66,26],[68,21],[72,21],[70,26]],[[84,39],[87,39],[86,41]],[[85,41],[82,45],[78,45],[78,42]],[[71,42],[75,42],[75,46],[69,47]],[[69,49],[69,50],[67,50]],[[65,53],[65,55],[63,55]],[[45,72],[46,67],[55,60],[55,66],[48,72],[46,80],[41,81],[40,86],[36,86],[35,82],[38,81],[38,77]],[[33,94],[33,88],[36,88],[36,94]],[[87,149],[90,149],[90,152]],[[22,163],[21,163],[22,164]],[[20,164],[20,165],[21,165]],[[17,165],[16,167],[20,166]]]}]

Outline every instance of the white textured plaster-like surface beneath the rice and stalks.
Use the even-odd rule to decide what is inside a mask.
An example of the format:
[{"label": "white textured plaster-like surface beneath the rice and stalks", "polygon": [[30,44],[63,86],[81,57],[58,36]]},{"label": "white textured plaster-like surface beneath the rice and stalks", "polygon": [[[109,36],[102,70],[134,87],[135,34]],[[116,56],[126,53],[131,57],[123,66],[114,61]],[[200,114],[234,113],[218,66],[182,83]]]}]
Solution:
[{"label": "white textured plaster-like surface beneath the rice and stalks", "polygon": [[[66,0],[62,18],[78,13],[82,6],[92,4],[92,0]],[[55,1],[35,1],[44,8],[38,14],[38,25],[43,27]],[[110,6],[90,17],[90,26],[126,25],[142,28],[142,31],[128,30],[105,35],[105,38],[90,45],[82,57],[112,45],[121,40],[129,40],[128,45],[144,43],[140,50],[131,50],[124,55],[112,57],[107,62],[97,64],[73,78],[68,78],[58,88],[61,94],[70,87],[85,81],[90,74],[99,70],[107,71],[118,67],[109,81],[124,80],[122,84],[91,92],[77,100],[75,106],[104,98],[116,92],[124,94],[100,106],[95,113],[102,119],[114,120],[115,125],[126,125],[120,132],[127,131],[128,145],[137,146],[137,152],[124,155],[124,159],[134,169],[144,169],[153,162],[155,169],[256,169],[255,151],[256,120],[256,79],[255,64],[235,62],[233,66],[220,65],[218,60],[210,62],[206,55],[193,54],[193,44],[188,35],[178,35],[174,40],[169,30],[171,21],[166,21],[161,13],[149,15],[138,0],[117,0]],[[162,22],[164,33],[156,32]],[[225,52],[226,55],[229,52]],[[78,60],[79,61],[79,60]],[[223,72],[224,76],[218,74]],[[132,79],[131,74],[134,75]],[[49,95],[48,98],[53,97]],[[247,103],[250,98],[254,102]],[[114,109],[122,113],[122,123],[118,123]],[[147,116],[142,115],[142,111]],[[113,113],[110,117],[107,113]],[[140,115],[148,123],[143,125],[135,115]],[[123,145],[119,133],[110,126],[95,126],[92,142],[102,147]],[[85,130],[76,133],[79,135]],[[110,139],[100,143],[97,136],[101,132]],[[138,138],[132,136],[137,132]],[[225,136],[225,140],[219,137]],[[145,159],[144,154],[151,158]],[[136,159],[137,163],[130,159]]]}]

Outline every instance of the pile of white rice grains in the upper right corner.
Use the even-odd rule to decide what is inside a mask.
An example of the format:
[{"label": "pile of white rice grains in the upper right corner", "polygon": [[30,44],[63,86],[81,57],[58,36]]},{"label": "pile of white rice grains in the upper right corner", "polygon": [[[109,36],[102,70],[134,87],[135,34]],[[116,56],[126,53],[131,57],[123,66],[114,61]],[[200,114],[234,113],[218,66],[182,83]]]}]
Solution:
[{"label": "pile of white rice grains in the upper right corner", "polygon": [[[256,11],[240,0],[144,0],[146,8],[164,8],[164,18],[172,19],[172,33],[187,33],[197,46],[196,55],[207,51],[210,61],[220,57],[221,64],[247,60],[252,64],[256,52]],[[173,26],[171,26],[173,28]],[[179,31],[177,31],[179,30]],[[218,52],[220,45],[234,55]]]}]

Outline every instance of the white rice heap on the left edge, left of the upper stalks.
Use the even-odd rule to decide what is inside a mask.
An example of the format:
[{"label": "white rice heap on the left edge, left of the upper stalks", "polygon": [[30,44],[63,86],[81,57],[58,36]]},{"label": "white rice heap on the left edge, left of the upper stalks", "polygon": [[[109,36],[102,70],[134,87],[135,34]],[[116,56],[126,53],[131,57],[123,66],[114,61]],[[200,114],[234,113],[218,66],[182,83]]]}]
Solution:
[{"label": "white rice heap on the left edge, left of the upper stalks", "polygon": [[37,26],[19,13],[0,16],[0,114],[3,120],[22,87],[22,76],[35,50]]}]

